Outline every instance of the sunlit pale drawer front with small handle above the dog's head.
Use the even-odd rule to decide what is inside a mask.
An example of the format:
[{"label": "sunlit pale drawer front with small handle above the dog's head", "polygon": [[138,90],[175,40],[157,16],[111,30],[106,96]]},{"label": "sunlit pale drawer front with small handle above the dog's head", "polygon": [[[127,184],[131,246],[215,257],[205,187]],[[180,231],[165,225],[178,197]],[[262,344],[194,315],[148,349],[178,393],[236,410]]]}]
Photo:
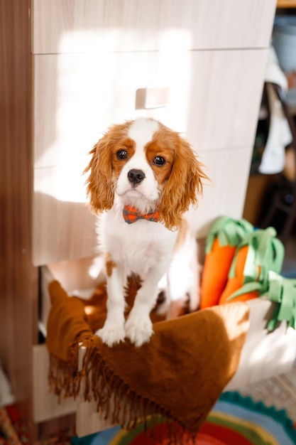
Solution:
[{"label": "sunlit pale drawer front with small handle above the dog's head", "polygon": [[[65,166],[80,176],[102,132],[138,116],[185,133],[197,151],[251,145],[267,55],[268,50],[36,55],[34,166]],[[136,109],[137,90],[143,88],[168,89],[166,103]]]}]

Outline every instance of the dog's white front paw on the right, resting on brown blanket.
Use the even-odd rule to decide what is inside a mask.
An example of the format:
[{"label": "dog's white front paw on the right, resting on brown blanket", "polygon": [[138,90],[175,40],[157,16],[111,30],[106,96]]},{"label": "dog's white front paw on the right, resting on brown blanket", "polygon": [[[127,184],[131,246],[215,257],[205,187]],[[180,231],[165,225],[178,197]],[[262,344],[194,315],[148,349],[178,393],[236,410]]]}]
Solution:
[{"label": "dog's white front paw on the right, resting on brown blanket", "polygon": [[141,346],[150,340],[153,334],[153,327],[149,316],[139,316],[131,311],[126,321],[126,337],[135,346]]}]

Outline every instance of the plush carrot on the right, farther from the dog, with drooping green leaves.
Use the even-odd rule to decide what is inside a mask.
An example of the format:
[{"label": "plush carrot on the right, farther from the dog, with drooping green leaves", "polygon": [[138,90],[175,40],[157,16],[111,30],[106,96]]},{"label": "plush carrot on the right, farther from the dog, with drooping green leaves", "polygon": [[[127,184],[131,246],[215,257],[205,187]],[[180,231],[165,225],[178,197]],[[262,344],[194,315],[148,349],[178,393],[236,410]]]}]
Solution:
[{"label": "plush carrot on the right, farther from the dog, with drooping green leaves", "polygon": [[219,304],[258,298],[268,289],[268,273],[280,273],[284,246],[273,227],[255,230],[236,249]]}]

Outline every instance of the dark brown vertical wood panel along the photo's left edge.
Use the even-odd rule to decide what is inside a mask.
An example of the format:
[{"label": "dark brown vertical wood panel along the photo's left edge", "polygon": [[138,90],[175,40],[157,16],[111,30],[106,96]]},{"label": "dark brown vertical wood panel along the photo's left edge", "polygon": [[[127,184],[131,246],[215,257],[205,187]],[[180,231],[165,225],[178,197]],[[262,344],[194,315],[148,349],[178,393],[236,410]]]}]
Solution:
[{"label": "dark brown vertical wood panel along the photo's left edge", "polygon": [[38,273],[31,263],[29,4],[0,2],[0,356],[28,421],[32,345],[38,340]]}]

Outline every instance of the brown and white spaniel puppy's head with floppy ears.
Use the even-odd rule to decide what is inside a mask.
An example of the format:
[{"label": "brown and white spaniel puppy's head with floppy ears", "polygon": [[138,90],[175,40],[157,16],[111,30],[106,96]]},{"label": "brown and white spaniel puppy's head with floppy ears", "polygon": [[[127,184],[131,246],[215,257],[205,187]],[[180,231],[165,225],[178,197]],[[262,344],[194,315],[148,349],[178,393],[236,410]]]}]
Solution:
[{"label": "brown and white spaniel puppy's head with floppy ears", "polygon": [[179,227],[190,204],[197,204],[202,164],[182,137],[154,119],[110,127],[90,152],[87,193],[95,213],[114,198],[141,212],[158,210],[168,229]]}]

